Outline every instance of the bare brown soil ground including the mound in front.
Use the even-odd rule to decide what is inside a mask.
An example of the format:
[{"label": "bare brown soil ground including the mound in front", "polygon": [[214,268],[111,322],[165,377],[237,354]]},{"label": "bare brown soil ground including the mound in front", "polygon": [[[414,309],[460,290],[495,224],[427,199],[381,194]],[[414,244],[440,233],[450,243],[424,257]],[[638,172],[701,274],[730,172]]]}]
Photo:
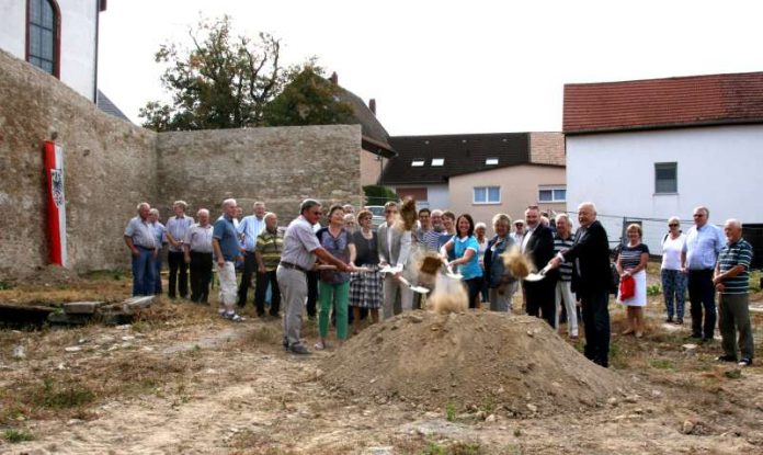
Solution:
[{"label": "bare brown soil ground including the mound in front", "polygon": [[[128,292],[116,278],[0,300]],[[608,371],[563,327],[480,310],[400,316],[309,356],[283,350],[278,320],[235,325],[164,298],[132,326],[2,330],[0,453],[763,453],[759,364],[716,363],[719,342],[662,323],[660,297],[641,340],[611,310]],[[760,314],[753,326],[758,361]],[[315,322],[303,334],[311,345]],[[20,434],[32,441],[10,442]]]}]

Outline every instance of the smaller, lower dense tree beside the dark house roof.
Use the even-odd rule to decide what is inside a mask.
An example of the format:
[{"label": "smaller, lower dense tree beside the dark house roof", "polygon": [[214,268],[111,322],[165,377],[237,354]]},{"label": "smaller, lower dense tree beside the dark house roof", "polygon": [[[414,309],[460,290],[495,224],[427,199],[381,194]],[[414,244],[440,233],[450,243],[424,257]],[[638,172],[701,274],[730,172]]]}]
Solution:
[{"label": "smaller, lower dense tree beside the dark house roof", "polygon": [[315,59],[292,68],[283,92],[264,110],[266,126],[335,125],[351,123],[353,110],[340,100],[340,88],[323,77]]}]

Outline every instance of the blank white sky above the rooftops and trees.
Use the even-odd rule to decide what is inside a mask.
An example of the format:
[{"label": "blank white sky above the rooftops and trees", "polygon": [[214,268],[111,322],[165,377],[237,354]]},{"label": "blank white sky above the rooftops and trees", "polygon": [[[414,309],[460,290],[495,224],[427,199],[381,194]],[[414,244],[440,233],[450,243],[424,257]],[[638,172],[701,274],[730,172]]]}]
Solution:
[{"label": "blank white sky above the rooftops and trees", "polygon": [[565,83],[763,70],[753,0],[110,0],[99,87],[134,122],[200,12],[274,34],[285,65],[318,56],[394,136],[560,130]]}]

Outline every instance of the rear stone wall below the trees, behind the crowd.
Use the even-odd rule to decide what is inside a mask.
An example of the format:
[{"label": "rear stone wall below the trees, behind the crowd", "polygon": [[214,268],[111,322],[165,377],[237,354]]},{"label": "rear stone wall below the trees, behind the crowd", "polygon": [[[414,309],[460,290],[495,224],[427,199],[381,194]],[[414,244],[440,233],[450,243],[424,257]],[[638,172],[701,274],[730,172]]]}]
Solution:
[{"label": "rear stone wall below the trees, behind the crowd", "polygon": [[162,218],[176,200],[194,217],[208,208],[213,219],[225,198],[236,198],[244,215],[263,201],[280,225],[307,197],[362,204],[360,125],[161,133],[157,151]]}]

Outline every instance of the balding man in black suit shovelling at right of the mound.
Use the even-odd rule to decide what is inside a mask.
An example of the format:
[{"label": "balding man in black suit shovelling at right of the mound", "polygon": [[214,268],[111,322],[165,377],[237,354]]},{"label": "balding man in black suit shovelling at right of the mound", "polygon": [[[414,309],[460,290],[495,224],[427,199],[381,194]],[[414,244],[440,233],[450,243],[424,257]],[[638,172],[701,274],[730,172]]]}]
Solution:
[{"label": "balding man in black suit shovelling at right of the mound", "polygon": [[558,268],[565,261],[576,263],[572,273],[572,291],[583,307],[585,325],[585,356],[607,367],[610,355],[610,240],[606,230],[596,220],[596,207],[585,202],[578,207],[580,229],[574,243],[561,251],[548,263]]}]

